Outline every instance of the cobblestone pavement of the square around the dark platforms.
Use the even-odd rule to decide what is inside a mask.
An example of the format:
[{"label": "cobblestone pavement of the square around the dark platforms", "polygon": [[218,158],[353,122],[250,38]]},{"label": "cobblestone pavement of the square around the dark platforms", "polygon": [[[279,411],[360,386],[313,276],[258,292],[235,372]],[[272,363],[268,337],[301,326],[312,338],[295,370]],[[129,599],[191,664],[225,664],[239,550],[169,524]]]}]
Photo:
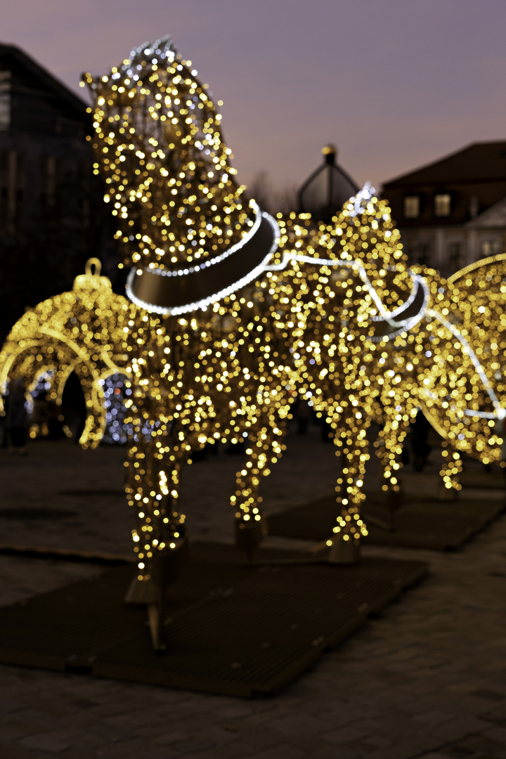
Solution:
[{"label": "cobblestone pavement of the square around the dark platforms", "polygon": [[[82,452],[66,441],[32,442],[26,458],[0,450],[0,543],[130,553],[132,515],[119,493],[123,457],[121,448]],[[407,490],[435,493],[437,451],[432,458],[427,473],[406,469]],[[193,539],[231,540],[228,498],[240,462],[219,452],[188,469],[183,503]],[[266,481],[266,511],[324,496],[334,479],[332,445],[319,441],[318,430],[291,434]],[[86,490],[95,495],[79,492]],[[33,519],[33,506],[59,515]],[[14,509],[22,518],[13,518]],[[506,518],[458,552],[366,550],[425,559],[431,573],[274,698],[244,701],[2,666],[0,757],[506,757]],[[99,571],[0,556],[0,603]]]}]

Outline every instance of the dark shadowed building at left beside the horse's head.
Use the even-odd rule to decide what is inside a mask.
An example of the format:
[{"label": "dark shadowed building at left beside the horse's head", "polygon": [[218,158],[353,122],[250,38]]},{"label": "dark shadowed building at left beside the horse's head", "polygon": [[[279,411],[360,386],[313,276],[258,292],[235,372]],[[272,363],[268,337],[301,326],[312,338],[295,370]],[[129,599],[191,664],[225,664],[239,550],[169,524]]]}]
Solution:
[{"label": "dark shadowed building at left beside the horse's head", "polygon": [[71,288],[88,257],[114,258],[92,131],[85,102],[0,44],[0,338],[25,307]]}]

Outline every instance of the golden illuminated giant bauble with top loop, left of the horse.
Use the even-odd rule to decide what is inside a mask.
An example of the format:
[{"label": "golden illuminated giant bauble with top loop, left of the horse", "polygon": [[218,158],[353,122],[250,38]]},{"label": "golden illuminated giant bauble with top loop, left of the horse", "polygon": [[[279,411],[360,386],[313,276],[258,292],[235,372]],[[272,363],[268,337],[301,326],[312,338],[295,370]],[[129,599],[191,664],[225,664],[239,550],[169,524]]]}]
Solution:
[{"label": "golden illuminated giant bauble with top loop, left of the horse", "polygon": [[73,290],[27,310],[11,329],[0,353],[2,392],[8,380],[19,377],[29,395],[45,376],[49,398],[61,405],[65,383],[74,371],[87,411],[79,442],[83,448],[94,448],[105,430],[104,380],[130,373],[122,341],[132,311],[132,304],[113,293],[111,282],[100,276],[99,260],[90,259]]}]

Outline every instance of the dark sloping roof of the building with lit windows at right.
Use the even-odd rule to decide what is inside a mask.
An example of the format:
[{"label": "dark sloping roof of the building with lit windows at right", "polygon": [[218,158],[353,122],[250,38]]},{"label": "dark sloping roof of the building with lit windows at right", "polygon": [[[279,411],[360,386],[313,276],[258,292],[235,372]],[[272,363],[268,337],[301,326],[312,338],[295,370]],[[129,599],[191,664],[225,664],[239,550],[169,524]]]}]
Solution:
[{"label": "dark sloping roof of the building with lit windows at right", "polygon": [[414,172],[390,179],[383,188],[482,181],[506,181],[506,140],[472,143]]}]

